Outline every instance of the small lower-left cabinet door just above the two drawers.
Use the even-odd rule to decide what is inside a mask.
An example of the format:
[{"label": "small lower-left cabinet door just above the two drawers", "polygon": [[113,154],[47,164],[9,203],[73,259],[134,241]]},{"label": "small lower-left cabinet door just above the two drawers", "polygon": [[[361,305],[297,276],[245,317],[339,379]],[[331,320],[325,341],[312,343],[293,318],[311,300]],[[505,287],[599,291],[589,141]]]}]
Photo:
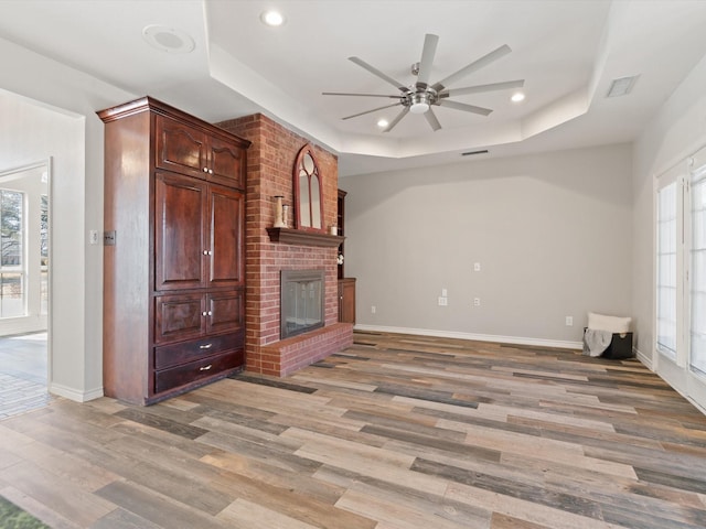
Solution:
[{"label": "small lower-left cabinet door just above the two drawers", "polygon": [[154,298],[154,343],[195,338],[206,331],[203,294],[172,294]]}]

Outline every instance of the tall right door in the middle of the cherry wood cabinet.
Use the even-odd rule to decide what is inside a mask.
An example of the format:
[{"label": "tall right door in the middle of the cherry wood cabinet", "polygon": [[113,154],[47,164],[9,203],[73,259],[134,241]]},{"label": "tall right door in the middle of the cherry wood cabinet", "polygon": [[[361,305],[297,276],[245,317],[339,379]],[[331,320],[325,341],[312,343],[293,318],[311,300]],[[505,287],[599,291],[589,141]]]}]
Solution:
[{"label": "tall right door in the middle of the cherry wood cabinet", "polygon": [[243,193],[212,185],[210,203],[208,285],[238,287],[245,283]]}]

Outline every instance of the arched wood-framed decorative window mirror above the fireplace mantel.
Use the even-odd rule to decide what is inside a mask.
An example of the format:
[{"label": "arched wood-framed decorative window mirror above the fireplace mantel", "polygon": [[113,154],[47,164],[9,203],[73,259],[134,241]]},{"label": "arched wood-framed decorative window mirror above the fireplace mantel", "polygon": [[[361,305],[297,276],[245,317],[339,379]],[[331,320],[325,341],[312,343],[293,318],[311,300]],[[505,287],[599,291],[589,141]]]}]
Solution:
[{"label": "arched wood-framed decorative window mirror above the fireplace mantel", "polygon": [[293,181],[297,229],[325,231],[321,173],[310,143],[297,154]]}]

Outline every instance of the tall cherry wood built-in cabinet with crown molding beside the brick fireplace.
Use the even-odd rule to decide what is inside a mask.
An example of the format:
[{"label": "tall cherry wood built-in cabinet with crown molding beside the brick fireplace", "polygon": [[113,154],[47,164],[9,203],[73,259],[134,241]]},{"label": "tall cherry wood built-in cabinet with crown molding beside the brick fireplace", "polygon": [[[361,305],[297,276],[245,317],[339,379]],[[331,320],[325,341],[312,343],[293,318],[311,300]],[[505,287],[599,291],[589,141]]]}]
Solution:
[{"label": "tall cherry wood built-in cabinet with crown molding beside the brick fireplace", "polygon": [[244,366],[249,142],[147,97],[98,116],[104,392],[149,404]]}]

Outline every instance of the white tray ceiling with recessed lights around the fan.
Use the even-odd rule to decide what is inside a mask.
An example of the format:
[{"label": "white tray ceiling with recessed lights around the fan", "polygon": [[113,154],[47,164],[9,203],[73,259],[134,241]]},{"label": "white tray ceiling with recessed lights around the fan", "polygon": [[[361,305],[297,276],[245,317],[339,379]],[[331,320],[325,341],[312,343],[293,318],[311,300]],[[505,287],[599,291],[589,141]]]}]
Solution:
[{"label": "white tray ceiling with recessed lights around the fan", "polygon": [[[260,22],[276,7],[277,29]],[[186,32],[189,54],[142,39],[148,25]],[[1,0],[0,37],[136,96],[150,95],[208,121],[264,112],[340,156],[340,175],[631,141],[706,55],[704,0]],[[347,60],[359,56],[411,85],[425,34],[439,36],[431,82],[496,47],[512,53],[450,88],[525,79],[511,91],[459,96],[488,117],[434,107],[442,129],[399,107],[342,120],[396,94]],[[611,82],[639,75],[632,93]],[[115,101],[120,104],[124,101]],[[478,159],[479,156],[477,156]]]}]

